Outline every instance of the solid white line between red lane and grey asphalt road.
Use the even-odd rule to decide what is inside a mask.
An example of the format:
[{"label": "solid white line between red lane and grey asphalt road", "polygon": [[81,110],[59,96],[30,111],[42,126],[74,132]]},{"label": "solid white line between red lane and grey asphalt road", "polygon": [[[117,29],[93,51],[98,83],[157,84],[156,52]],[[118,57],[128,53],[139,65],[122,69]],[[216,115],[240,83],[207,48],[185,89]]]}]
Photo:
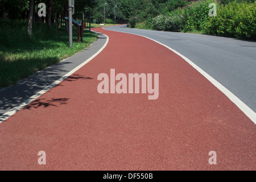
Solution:
[{"label": "solid white line between red lane and grey asphalt road", "polygon": [[[104,30],[107,30],[105,28],[103,28]],[[108,30],[108,31],[114,31],[114,30]],[[114,31],[114,32],[119,32],[119,31]],[[133,34],[133,33],[127,33],[127,32],[121,32],[124,34]],[[208,73],[206,73],[205,71],[203,71],[203,69],[201,69],[200,67],[198,67],[195,63],[193,63],[191,60],[189,60],[187,57],[181,55],[181,53],[175,51],[174,49],[172,49],[171,47],[166,46],[165,44],[162,44],[154,39],[148,38],[147,36],[143,36],[143,35],[139,35],[139,34],[133,34],[133,35],[138,35],[138,36],[142,36],[144,38],[153,40],[154,42],[170,49],[172,52],[176,53],[177,55],[179,55],[180,57],[182,57],[185,61],[187,61],[188,64],[190,64],[193,68],[195,68],[199,73],[201,73],[201,75],[203,75],[205,78],[207,78],[207,80],[209,80],[214,86],[217,87],[217,89],[219,89],[222,93],[225,94],[225,96],[227,96],[229,98],[230,101],[232,101],[234,104],[237,105],[237,107],[245,114],[247,115],[248,118],[251,119],[251,121],[254,122],[254,124],[256,124],[256,113],[250,108],[248,107],[245,103],[243,103],[237,96],[235,96],[232,92],[230,92],[227,88],[225,88],[225,86],[221,85],[220,82],[218,82],[217,80],[215,80],[213,77],[211,77],[210,75],[208,75]]]}]

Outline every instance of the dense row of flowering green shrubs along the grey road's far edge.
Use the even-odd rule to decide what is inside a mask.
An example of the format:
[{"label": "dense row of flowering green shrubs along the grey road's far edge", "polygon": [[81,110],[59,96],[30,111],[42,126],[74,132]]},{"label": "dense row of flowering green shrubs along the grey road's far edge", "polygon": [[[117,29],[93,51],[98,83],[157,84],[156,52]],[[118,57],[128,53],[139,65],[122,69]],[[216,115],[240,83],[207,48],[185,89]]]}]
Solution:
[{"label": "dense row of flowering green shrubs along the grey road's far edge", "polygon": [[[217,16],[209,16],[210,3],[216,3]],[[152,28],[163,31],[203,31],[209,35],[256,40],[256,2],[235,1],[223,5],[217,0],[192,1],[183,8],[153,18]]]}]

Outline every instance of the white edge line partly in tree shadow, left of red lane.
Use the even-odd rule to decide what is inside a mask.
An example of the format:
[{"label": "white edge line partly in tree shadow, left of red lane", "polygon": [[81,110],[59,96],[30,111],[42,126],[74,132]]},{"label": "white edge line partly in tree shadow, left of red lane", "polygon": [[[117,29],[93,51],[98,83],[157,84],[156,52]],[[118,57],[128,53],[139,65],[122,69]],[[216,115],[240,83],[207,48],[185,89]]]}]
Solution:
[{"label": "white edge line partly in tree shadow, left of red lane", "polygon": [[[102,34],[102,35],[105,35],[105,34]],[[68,72],[66,75],[64,75],[61,78],[59,78],[59,80],[56,80],[52,84],[46,86],[46,88],[44,88],[43,90],[41,90],[38,93],[34,94],[34,96],[31,96],[26,101],[24,101],[21,104],[13,107],[13,109],[11,109],[11,110],[7,111],[6,113],[4,113],[3,115],[1,115],[0,123],[2,123],[6,119],[8,119],[12,115],[14,115],[17,111],[19,111],[20,109],[22,109],[26,105],[30,104],[32,101],[36,100],[38,97],[42,96],[44,93],[48,92],[48,90],[52,89],[54,86],[59,84],[61,81],[64,81],[66,78],[71,76],[73,73],[75,73],[81,67],[83,67],[85,64],[89,63],[94,57],[96,57],[107,46],[107,44],[109,42],[109,37],[107,35],[105,35],[105,36],[106,36],[107,40],[106,40],[104,46],[100,50],[98,50],[98,52],[96,52],[92,57],[90,57],[88,60],[84,61],[84,63],[81,63],[80,65],[78,65],[76,68],[72,69],[72,71]]]}]

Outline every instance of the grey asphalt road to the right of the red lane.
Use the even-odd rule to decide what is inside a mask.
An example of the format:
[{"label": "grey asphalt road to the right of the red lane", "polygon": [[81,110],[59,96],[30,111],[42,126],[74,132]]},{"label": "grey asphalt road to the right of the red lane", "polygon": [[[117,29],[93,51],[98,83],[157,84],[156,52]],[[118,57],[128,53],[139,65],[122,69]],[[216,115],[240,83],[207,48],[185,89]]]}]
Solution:
[{"label": "grey asphalt road to the right of the red lane", "polygon": [[105,27],[106,30],[138,34],[181,53],[243,103],[256,111],[256,42],[218,36]]}]

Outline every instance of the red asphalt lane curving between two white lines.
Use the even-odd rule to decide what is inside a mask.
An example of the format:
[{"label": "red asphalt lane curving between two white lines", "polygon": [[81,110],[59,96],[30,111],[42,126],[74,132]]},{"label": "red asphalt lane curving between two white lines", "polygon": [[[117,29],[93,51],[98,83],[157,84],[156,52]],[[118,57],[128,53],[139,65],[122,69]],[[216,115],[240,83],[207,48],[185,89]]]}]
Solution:
[{"label": "red asphalt lane curving between two white lines", "polygon": [[[0,123],[1,170],[256,169],[255,124],[204,76],[152,40],[92,30],[108,35],[108,46]],[[159,73],[159,98],[99,94],[97,76],[110,69]]]}]

